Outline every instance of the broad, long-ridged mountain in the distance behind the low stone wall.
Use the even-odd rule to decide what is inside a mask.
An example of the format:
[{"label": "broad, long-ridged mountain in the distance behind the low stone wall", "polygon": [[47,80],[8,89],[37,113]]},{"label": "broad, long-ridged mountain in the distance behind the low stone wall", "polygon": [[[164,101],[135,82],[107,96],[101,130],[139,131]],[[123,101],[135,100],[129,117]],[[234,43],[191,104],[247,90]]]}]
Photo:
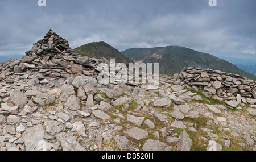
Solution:
[{"label": "broad, long-ridged mountain in the distance behind the low stone wall", "polygon": [[131,48],[122,51],[122,53],[135,63],[159,63],[159,73],[163,74],[180,73],[183,67],[196,67],[240,74],[256,80],[256,76],[244,72],[228,61],[185,47]]}]

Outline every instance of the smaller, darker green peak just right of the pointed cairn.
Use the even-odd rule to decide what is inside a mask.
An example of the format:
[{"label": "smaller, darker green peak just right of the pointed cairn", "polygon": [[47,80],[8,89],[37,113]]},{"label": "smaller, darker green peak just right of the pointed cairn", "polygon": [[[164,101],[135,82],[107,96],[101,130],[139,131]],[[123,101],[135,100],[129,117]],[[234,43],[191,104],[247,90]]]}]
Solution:
[{"label": "smaller, darker green peak just right of the pointed cairn", "polygon": [[110,59],[115,59],[115,63],[133,63],[132,60],[104,41],[88,43],[74,50],[82,56],[95,57],[98,59],[105,57],[109,61]]}]

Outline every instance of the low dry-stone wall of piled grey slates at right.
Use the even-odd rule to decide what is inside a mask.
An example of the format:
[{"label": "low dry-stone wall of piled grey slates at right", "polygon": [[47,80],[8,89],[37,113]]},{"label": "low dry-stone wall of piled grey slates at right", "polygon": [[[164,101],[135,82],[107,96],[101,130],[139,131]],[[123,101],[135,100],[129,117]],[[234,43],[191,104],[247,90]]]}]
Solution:
[{"label": "low dry-stone wall of piled grey slates at right", "polygon": [[220,70],[204,69],[195,67],[184,67],[180,74],[174,78],[180,78],[185,84],[198,91],[206,97],[213,97],[219,101],[223,99],[234,103],[227,105],[236,107],[239,103],[256,103],[256,82],[250,78],[221,72]]}]

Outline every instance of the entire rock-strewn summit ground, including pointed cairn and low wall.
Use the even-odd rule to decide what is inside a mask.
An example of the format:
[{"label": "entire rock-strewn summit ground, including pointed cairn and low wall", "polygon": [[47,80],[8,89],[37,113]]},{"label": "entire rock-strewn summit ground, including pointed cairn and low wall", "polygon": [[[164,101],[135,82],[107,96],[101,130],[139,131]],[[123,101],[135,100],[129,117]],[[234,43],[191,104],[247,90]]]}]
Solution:
[{"label": "entire rock-strewn summit ground, including pointed cairn and low wall", "polygon": [[[53,31],[1,65],[0,150],[256,150],[255,82],[184,68],[151,84],[100,84],[105,59]],[[108,73],[108,72],[107,72]]]}]

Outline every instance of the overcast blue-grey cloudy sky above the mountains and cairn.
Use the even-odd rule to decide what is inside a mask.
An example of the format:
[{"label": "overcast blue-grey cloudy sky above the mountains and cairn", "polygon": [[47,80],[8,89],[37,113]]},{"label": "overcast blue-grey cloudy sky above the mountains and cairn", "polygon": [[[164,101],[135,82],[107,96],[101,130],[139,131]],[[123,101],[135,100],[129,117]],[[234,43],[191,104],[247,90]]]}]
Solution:
[{"label": "overcast blue-grey cloudy sky above the mountains and cairn", "polygon": [[24,55],[52,28],[71,48],[105,41],[124,51],[179,45],[256,59],[256,1],[0,0],[0,56]]}]

